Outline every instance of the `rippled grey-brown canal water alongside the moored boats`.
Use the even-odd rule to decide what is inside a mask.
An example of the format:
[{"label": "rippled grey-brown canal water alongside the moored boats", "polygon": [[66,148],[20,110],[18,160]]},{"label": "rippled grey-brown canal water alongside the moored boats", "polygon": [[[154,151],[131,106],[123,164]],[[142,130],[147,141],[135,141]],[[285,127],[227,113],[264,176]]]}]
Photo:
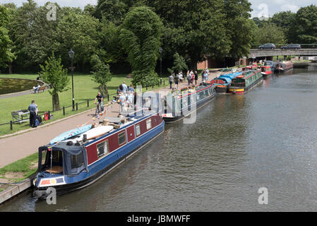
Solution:
[{"label": "rippled grey-brown canal water alongside the moored boats", "polygon": [[[246,95],[217,95],[56,205],[23,194],[0,211],[316,211],[317,65]],[[268,204],[260,205],[260,188]]]}]

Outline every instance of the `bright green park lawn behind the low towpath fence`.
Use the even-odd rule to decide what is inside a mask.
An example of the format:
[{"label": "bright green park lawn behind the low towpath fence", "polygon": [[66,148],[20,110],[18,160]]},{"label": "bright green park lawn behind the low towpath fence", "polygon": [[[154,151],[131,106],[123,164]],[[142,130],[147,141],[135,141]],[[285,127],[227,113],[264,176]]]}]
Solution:
[{"label": "bright green park lawn behind the low towpath fence", "polygon": [[[71,75],[69,75],[71,78]],[[0,74],[2,78],[28,78],[28,79],[36,79],[37,74]],[[165,85],[168,85],[168,78],[165,76],[163,78],[165,81]],[[71,81],[71,80],[70,80]],[[109,101],[112,100],[112,97],[116,94],[116,89],[123,81],[126,81],[127,85],[131,84],[131,78],[126,78],[126,74],[113,75],[112,81],[108,83],[109,90]],[[91,76],[89,74],[76,73],[73,76],[73,86],[74,86],[74,97],[75,102],[83,103],[78,105],[78,111],[72,111],[72,91],[71,91],[71,82],[69,83],[69,89],[64,93],[59,93],[59,102],[60,107],[68,107],[65,109],[65,116],[63,115],[63,110],[59,112],[52,112],[52,96],[49,95],[47,90],[40,91],[40,93],[30,93],[28,95],[21,95],[16,97],[7,97],[0,99],[0,124],[7,123],[12,120],[11,112],[20,110],[20,109],[28,109],[30,102],[35,100],[35,103],[38,106],[40,114],[44,112],[51,111],[54,115],[52,120],[61,119],[64,117],[68,117],[71,114],[77,114],[78,112],[83,112],[87,109],[92,109],[95,107],[93,105],[93,101],[89,102],[89,107],[87,107],[87,100],[95,100],[95,97],[98,92],[98,85],[94,81],[92,81]],[[148,90],[160,88],[158,85],[154,86],[154,88],[150,87]],[[145,92],[145,88],[143,88],[143,92]],[[105,100],[104,102],[107,102]],[[52,121],[50,120],[50,121]],[[50,122],[46,121],[46,122]],[[45,123],[45,121],[43,121]],[[14,133],[16,131],[29,129],[29,122],[26,121],[22,124],[13,124],[13,130],[10,129],[10,124],[6,124],[0,126],[0,136],[3,136],[8,133]]]}]

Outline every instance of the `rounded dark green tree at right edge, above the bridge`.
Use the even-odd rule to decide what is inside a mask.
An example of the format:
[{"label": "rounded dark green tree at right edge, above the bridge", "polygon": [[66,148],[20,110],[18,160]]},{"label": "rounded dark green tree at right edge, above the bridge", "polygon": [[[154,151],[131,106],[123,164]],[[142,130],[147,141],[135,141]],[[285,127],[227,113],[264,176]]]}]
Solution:
[{"label": "rounded dark green tree at right edge, above the bridge", "polygon": [[299,8],[289,28],[289,39],[293,43],[302,44],[317,42],[317,6]]}]

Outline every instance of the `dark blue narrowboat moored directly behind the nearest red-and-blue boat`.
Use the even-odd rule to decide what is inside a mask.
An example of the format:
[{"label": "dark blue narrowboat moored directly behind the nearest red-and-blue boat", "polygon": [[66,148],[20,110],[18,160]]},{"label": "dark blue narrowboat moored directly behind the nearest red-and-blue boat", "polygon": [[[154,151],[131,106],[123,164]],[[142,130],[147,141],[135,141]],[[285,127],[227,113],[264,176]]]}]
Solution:
[{"label": "dark blue narrowboat moored directly behind the nearest red-and-blue boat", "polygon": [[215,85],[210,83],[169,93],[165,97],[165,114],[162,114],[162,118],[167,124],[180,121],[213,100],[215,95]]}]

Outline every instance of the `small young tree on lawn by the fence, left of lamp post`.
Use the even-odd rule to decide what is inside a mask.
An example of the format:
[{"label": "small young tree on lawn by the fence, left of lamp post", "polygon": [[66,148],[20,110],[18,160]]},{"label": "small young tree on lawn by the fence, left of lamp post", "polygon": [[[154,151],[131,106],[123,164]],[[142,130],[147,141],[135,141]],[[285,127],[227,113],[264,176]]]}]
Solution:
[{"label": "small young tree on lawn by the fence, left of lamp post", "polygon": [[59,110],[59,93],[68,90],[68,83],[70,81],[67,76],[67,69],[63,68],[61,64],[61,57],[56,59],[54,53],[52,57],[48,57],[45,61],[45,65],[40,65],[40,76],[42,81],[49,84],[52,90],[49,90],[49,94],[52,95],[53,111]]}]

